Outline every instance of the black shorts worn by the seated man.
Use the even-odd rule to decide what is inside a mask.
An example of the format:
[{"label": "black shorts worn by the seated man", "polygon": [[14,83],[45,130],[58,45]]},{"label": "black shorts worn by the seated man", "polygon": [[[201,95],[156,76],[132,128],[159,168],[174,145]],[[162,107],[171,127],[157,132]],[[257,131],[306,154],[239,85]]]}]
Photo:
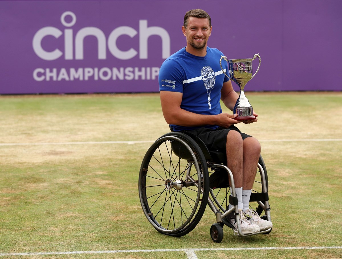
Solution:
[{"label": "black shorts worn by the seated man", "polygon": [[250,135],[246,133],[242,133],[237,127],[234,125],[230,126],[229,128],[222,128],[219,127],[217,129],[208,129],[208,128],[199,128],[195,130],[186,130],[188,135],[195,135],[200,138],[207,148],[210,151],[222,151],[225,152],[226,150],[226,143],[227,143],[227,135],[228,132],[231,130],[236,130],[240,132],[242,140],[247,139]]}]

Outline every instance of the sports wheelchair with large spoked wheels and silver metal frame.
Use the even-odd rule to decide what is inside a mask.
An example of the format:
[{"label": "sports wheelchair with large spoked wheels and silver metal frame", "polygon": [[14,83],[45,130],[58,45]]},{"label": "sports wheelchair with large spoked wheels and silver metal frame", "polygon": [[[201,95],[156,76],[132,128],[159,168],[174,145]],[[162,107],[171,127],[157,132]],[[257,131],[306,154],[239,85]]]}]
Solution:
[{"label": "sports wheelchair with large spoked wheels and silver metal frame", "polygon": [[[270,233],[272,228],[241,232],[233,174],[226,165],[225,153],[209,152],[196,136],[169,132],[158,138],[144,156],[139,173],[140,202],[150,224],[165,235],[186,235],[196,227],[208,204],[215,214],[210,236],[216,243],[223,239],[223,226],[235,229],[225,219],[232,212],[237,236]],[[229,203],[234,206],[228,210]],[[250,207],[254,205],[260,216],[264,213],[261,218],[271,221],[267,171],[261,156],[250,198]]]}]

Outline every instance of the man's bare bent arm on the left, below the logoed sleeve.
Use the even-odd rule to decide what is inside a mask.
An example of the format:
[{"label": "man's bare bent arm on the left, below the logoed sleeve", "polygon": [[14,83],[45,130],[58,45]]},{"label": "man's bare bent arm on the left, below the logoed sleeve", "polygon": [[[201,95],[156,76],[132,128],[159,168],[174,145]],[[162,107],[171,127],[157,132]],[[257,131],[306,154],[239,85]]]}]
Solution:
[{"label": "man's bare bent arm on the left, below the logoed sleeve", "polygon": [[160,91],[161,109],[168,124],[184,127],[195,127],[205,125],[218,125],[229,127],[239,123],[233,119],[235,116],[227,113],[218,115],[202,115],[185,111],[181,108],[183,93]]}]

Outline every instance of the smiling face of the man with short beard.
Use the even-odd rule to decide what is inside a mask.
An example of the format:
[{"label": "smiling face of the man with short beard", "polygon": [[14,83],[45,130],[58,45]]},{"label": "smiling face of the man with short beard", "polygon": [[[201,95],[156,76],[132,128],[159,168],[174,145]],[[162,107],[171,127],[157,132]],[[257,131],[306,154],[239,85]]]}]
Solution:
[{"label": "smiling face of the man with short beard", "polygon": [[186,36],[187,45],[194,49],[203,49],[207,46],[207,41],[211,34],[211,27],[207,18],[189,17],[187,28],[182,27]]}]

